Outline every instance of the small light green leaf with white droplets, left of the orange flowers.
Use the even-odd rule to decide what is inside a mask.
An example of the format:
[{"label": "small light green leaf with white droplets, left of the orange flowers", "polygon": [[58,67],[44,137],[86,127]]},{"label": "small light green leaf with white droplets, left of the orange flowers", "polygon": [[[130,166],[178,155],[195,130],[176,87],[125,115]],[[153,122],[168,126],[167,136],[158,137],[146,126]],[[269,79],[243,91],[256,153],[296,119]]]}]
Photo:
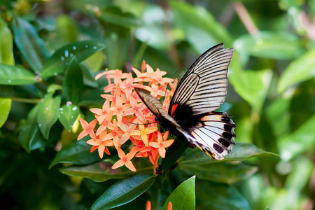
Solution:
[{"label": "small light green leaf with white droplets, left of the orange flowers", "polygon": [[80,109],[76,105],[66,104],[59,109],[59,121],[64,128],[71,132],[72,125],[76,122],[80,114]]}]

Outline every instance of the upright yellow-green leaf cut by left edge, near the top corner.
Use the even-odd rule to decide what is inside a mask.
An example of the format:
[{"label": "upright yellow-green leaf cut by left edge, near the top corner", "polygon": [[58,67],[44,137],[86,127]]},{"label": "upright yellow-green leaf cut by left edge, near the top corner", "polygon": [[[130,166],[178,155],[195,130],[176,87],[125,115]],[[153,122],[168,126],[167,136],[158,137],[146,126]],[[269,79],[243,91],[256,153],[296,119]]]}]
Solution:
[{"label": "upright yellow-green leaf cut by left edge, near the top corner", "polygon": [[0,64],[14,65],[13,56],[13,36],[6,26],[6,23],[0,18]]}]

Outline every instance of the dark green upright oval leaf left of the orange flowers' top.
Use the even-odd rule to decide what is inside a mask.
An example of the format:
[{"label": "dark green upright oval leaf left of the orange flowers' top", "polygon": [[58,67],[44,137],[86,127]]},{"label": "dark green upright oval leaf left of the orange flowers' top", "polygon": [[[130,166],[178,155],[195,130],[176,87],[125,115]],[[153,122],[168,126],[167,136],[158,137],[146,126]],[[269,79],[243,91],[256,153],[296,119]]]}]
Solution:
[{"label": "dark green upright oval leaf left of the orange flowers' top", "polygon": [[83,73],[76,57],[71,59],[64,83],[62,85],[62,93],[67,101],[77,104],[83,91]]}]

